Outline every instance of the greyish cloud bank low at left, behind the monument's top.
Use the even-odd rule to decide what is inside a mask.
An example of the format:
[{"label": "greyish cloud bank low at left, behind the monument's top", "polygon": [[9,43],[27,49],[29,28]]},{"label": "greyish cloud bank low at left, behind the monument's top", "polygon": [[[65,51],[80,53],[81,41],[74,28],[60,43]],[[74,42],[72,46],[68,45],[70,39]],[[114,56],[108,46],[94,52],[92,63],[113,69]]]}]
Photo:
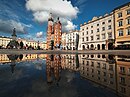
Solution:
[{"label": "greyish cloud bank low at left, behind the monument's top", "polygon": [[31,25],[27,25],[21,22],[17,22],[15,20],[2,20],[0,19],[0,31],[5,33],[12,33],[13,28],[16,28],[17,33],[24,34],[26,33],[25,29],[30,27]]}]

